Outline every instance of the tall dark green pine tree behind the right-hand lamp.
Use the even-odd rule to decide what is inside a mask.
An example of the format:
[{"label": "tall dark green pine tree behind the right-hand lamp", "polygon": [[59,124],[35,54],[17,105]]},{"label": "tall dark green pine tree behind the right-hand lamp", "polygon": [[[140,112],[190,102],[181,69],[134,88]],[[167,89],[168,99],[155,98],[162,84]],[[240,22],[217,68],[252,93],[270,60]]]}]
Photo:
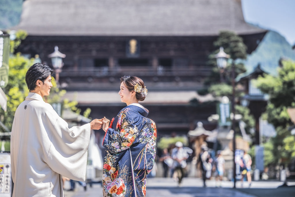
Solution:
[{"label": "tall dark green pine tree behind the right-hand lamp", "polygon": [[[247,46],[243,43],[242,38],[235,32],[231,31],[221,31],[217,40],[213,43],[214,50],[208,57],[208,64],[212,66],[212,74],[206,80],[205,85],[208,86],[208,92],[215,97],[227,96],[232,100],[232,64],[235,68],[235,76],[237,74],[246,71],[245,66],[240,63],[241,59],[246,59],[247,57]],[[229,63],[224,69],[224,83],[220,83],[219,68],[217,67],[217,62],[215,55],[219,52],[219,48],[223,47],[224,52],[230,55]],[[242,92],[235,89],[235,97],[238,98],[242,96]],[[203,90],[204,91],[204,90]],[[242,120],[245,122],[245,130],[250,133],[250,129],[254,127],[255,121],[252,115],[250,115],[250,110],[246,107],[235,105],[236,113],[243,116]],[[239,131],[239,127],[236,125],[236,131]]]}]

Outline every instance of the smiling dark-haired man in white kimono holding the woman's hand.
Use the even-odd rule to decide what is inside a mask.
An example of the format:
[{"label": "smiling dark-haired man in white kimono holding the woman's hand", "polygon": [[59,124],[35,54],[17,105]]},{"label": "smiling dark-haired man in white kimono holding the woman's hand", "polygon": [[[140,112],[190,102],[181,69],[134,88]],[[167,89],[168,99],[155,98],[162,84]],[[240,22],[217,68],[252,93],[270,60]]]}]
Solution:
[{"label": "smiling dark-haired man in white kimono holding the woman's hand", "polygon": [[49,95],[53,70],[32,65],[26,74],[30,90],[14,116],[11,132],[12,196],[63,197],[61,176],[84,181],[91,129],[100,129],[101,119],[68,128],[52,106]]}]

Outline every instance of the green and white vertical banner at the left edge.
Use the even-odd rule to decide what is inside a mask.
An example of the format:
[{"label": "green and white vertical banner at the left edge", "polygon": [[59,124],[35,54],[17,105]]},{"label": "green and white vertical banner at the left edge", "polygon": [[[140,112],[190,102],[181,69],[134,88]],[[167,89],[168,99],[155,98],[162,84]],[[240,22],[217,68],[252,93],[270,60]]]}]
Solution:
[{"label": "green and white vertical banner at the left edge", "polygon": [[10,52],[9,34],[0,31],[0,87],[4,88],[8,84],[8,61]]}]

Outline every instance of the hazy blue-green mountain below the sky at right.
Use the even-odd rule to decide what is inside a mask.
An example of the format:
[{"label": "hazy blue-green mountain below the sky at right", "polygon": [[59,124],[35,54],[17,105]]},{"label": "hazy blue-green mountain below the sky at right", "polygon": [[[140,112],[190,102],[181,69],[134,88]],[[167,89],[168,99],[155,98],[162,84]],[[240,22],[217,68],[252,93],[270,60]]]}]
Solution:
[{"label": "hazy blue-green mountain below the sky at right", "polygon": [[247,72],[251,72],[258,64],[272,75],[277,75],[280,58],[295,61],[295,52],[286,39],[275,31],[268,31],[255,51],[244,61]]}]

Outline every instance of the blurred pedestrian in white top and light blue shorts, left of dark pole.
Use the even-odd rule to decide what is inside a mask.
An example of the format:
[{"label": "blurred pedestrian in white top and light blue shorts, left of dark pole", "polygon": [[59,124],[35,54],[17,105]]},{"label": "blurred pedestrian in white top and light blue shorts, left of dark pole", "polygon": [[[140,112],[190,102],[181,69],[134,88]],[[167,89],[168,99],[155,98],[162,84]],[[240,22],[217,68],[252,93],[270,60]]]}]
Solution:
[{"label": "blurred pedestrian in white top and light blue shorts, left of dark pole", "polygon": [[221,187],[221,182],[223,179],[223,173],[224,173],[224,163],[225,160],[221,155],[221,151],[217,151],[217,155],[214,158],[213,162],[213,171],[215,171],[215,181],[216,181],[216,187]]}]

